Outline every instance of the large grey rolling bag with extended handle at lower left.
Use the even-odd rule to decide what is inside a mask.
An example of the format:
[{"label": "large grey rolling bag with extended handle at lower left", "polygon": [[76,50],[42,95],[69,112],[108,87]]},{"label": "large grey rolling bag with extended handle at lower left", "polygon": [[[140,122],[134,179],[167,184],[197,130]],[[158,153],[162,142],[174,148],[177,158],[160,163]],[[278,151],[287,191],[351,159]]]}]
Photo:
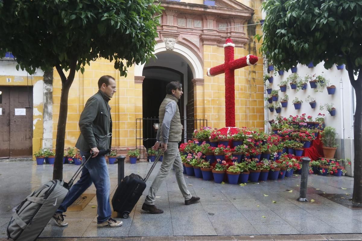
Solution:
[{"label": "large grey rolling bag with extended handle at lower left", "polygon": [[64,180],[48,181],[22,201],[9,221],[8,238],[16,241],[36,240],[62,204],[90,156],[81,164],[69,183]]}]

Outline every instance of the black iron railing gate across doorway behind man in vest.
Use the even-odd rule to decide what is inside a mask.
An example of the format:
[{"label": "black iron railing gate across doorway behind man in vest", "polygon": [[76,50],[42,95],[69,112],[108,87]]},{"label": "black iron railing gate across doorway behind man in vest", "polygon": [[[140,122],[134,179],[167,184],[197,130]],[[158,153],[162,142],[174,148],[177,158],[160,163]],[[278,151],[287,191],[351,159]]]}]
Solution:
[{"label": "black iron railing gate across doorway behind man in vest", "polygon": [[[192,140],[192,133],[195,129],[207,126],[206,119],[181,119],[183,138],[181,142]],[[136,148],[140,150],[140,159],[147,159],[147,151],[155,145],[157,130],[160,119],[158,118],[138,118],[136,119]]]}]

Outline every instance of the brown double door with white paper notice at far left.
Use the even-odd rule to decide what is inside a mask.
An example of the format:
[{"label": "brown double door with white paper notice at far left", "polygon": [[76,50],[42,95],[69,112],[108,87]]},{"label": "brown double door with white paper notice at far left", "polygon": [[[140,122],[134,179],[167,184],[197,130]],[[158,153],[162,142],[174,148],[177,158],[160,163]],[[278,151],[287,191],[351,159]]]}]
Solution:
[{"label": "brown double door with white paper notice at far left", "polygon": [[33,155],[33,87],[0,86],[0,159]]}]

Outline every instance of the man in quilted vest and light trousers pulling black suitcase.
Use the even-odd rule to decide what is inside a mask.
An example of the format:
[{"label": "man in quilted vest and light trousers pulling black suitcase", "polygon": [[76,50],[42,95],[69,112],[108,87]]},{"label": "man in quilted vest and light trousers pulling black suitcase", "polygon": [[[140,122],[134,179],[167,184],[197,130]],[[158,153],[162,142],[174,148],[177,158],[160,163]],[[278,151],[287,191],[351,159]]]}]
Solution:
[{"label": "man in quilted vest and light trousers pulling black suitcase", "polygon": [[179,82],[170,82],[166,86],[166,97],[161,103],[159,109],[160,126],[157,130],[156,143],[152,147],[154,150],[162,148],[164,152],[163,161],[160,171],[153,180],[150,191],[142,205],[142,210],[151,214],[162,214],[163,210],[155,206],[157,190],[160,188],[163,180],[168,175],[171,167],[176,171],[176,180],[178,188],[185,198],[185,205],[198,202],[200,198],[193,197],[186,187],[182,167],[180,152],[178,151],[178,143],[181,141],[182,125],[180,119],[180,111],[178,111],[177,102],[181,98],[182,84]]}]

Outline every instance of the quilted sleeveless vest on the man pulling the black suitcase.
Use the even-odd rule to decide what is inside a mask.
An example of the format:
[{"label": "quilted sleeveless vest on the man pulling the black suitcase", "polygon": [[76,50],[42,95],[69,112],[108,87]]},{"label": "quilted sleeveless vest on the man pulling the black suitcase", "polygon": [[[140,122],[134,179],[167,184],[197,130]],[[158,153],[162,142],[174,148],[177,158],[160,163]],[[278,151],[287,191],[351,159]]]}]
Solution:
[{"label": "quilted sleeveless vest on the man pulling the black suitcase", "polygon": [[[166,108],[167,104],[170,103],[171,101],[176,102],[176,112],[171,120],[170,132],[168,134],[168,141],[180,142],[181,137],[182,137],[182,124],[181,124],[181,119],[180,119],[180,111],[178,110],[178,106],[177,106],[178,99],[176,99],[176,97],[174,97],[173,95],[167,94],[165,99],[163,100],[163,102],[160,105],[160,109],[159,109],[160,126],[159,126],[159,128],[161,128],[161,126],[162,126],[162,121],[165,116],[165,108]],[[162,129],[161,129],[160,141],[162,141],[162,140],[163,140],[163,138],[162,138]]]}]

